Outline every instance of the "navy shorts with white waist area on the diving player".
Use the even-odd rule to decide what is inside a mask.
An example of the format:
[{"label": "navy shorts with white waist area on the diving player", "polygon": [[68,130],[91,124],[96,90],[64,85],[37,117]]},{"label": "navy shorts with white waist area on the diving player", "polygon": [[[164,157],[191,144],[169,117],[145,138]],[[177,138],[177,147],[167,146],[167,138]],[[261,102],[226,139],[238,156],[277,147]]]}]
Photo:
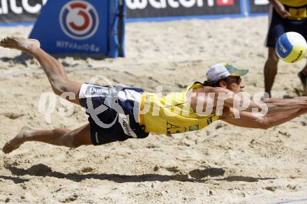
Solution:
[{"label": "navy shorts with white waist area on the diving player", "polygon": [[149,135],[138,123],[142,92],[140,88],[82,84],[79,101],[89,115],[93,145]]}]

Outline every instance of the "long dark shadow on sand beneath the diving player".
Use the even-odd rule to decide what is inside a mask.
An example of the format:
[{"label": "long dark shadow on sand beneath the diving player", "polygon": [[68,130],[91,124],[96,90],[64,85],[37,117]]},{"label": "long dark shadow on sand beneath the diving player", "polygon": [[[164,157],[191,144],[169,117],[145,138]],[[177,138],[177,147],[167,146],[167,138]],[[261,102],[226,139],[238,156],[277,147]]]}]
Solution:
[{"label": "long dark shadow on sand beneath the diving player", "polygon": [[[52,171],[49,166],[45,164],[36,164],[30,168],[18,168],[16,166],[6,166],[6,168],[13,174],[17,176],[23,175],[33,175],[33,176],[49,176],[54,178],[66,178],[75,182],[80,182],[85,179],[98,179],[98,180],[110,180],[117,183],[124,182],[146,182],[146,181],[160,181],[167,182],[170,180],[177,180],[181,182],[206,182],[207,176],[221,176],[224,175],[225,170],[223,168],[207,168],[204,170],[195,169],[190,171],[188,174],[176,174],[176,175],[160,175],[160,174],[143,174],[143,175],[119,175],[114,173],[61,173],[57,171]],[[27,182],[29,179],[23,178],[14,178],[11,176],[0,175],[0,178],[5,180],[13,180],[15,183]],[[269,180],[275,178],[253,178],[253,177],[244,177],[244,176],[231,176],[227,178],[216,178],[213,180],[226,180],[226,181],[243,181],[243,182],[257,182],[258,180]]]}]

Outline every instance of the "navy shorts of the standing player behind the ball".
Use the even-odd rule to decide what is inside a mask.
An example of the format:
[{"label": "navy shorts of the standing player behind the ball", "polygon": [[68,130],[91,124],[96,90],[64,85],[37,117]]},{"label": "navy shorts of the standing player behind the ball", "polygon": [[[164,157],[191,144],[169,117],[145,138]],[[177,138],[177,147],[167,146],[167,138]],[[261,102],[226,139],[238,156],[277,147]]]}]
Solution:
[{"label": "navy shorts of the standing player behind the ball", "polygon": [[[285,8],[289,10],[288,6],[285,6]],[[265,45],[267,47],[275,47],[279,36],[290,31],[300,33],[307,40],[307,19],[293,20],[282,18],[271,6],[269,10],[269,31]]]}]

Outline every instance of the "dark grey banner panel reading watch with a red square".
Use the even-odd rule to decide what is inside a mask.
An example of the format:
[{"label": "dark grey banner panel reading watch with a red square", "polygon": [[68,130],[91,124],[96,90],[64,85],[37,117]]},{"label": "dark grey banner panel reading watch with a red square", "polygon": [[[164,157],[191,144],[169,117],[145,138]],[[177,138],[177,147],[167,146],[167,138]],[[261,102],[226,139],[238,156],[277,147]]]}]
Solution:
[{"label": "dark grey banner panel reading watch with a red square", "polygon": [[126,0],[127,18],[240,15],[239,0]]}]

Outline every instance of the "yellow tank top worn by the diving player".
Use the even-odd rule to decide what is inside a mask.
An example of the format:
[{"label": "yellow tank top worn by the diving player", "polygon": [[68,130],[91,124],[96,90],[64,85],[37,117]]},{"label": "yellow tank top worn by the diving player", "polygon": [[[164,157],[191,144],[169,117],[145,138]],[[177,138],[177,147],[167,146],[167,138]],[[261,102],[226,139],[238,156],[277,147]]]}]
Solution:
[{"label": "yellow tank top worn by the diving player", "polygon": [[156,93],[142,95],[140,123],[145,125],[145,132],[158,134],[174,134],[200,130],[219,116],[211,114],[200,116],[190,107],[187,93],[191,89],[200,88],[201,84],[193,84],[186,90],[158,96]]}]

